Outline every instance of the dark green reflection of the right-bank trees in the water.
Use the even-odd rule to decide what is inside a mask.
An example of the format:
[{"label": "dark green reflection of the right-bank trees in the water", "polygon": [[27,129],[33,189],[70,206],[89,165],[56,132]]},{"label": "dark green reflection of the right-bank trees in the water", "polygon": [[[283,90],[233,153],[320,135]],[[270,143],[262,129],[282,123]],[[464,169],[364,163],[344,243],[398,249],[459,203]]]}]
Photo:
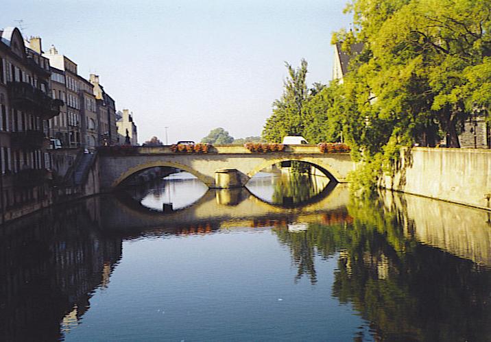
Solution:
[{"label": "dark green reflection of the right-bank trees in the water", "polygon": [[296,280],[315,284],[315,256],[339,253],[333,295],[372,322],[376,339],[489,341],[489,269],[405,235],[403,212],[381,201],[352,201],[343,215],[301,232],[274,229],[291,249]]}]

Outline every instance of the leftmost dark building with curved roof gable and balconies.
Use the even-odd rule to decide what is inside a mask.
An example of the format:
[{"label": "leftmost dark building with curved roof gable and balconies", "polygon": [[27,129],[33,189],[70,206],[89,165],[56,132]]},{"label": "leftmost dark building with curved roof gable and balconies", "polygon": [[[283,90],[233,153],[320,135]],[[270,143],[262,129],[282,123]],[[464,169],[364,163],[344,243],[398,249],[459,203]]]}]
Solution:
[{"label": "leftmost dark building with curved roof gable and balconies", "polygon": [[[49,195],[48,121],[62,101],[51,97],[49,60],[40,38],[24,41],[16,27],[0,30],[0,206],[5,215],[43,203]],[[7,219],[12,219],[8,217]]]}]

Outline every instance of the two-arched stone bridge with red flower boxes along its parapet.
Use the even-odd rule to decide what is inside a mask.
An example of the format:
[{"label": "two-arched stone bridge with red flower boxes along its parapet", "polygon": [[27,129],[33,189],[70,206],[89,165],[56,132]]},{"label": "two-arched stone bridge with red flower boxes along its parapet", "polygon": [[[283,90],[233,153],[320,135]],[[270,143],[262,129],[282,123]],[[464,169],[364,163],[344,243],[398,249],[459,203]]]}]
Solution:
[{"label": "two-arched stone bridge with red flower boxes along its parapet", "polygon": [[207,154],[176,153],[170,146],[132,147],[130,153],[99,154],[101,191],[111,191],[123,180],[151,167],[187,171],[209,188],[244,186],[257,172],[278,162],[307,162],[335,182],[346,182],[355,169],[348,153],[322,153],[316,145],[286,145],[284,151],[254,153],[241,145],[214,145]]}]

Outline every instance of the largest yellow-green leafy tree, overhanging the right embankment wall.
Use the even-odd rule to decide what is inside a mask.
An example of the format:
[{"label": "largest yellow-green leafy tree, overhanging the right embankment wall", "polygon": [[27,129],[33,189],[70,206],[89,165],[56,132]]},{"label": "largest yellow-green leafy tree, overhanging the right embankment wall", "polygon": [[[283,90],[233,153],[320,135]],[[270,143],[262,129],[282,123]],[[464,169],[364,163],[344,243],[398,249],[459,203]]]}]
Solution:
[{"label": "largest yellow-green leafy tree, overhanging the right embankment wall", "polygon": [[[438,129],[459,147],[459,127],[481,108],[481,77],[491,55],[490,0],[355,0],[355,32],[335,39],[361,41],[365,51],[346,77],[346,99],[361,134],[352,135],[368,156],[393,138],[431,145]],[[376,97],[376,101],[374,101]],[[362,123],[363,125],[363,123]],[[374,144],[374,145],[372,145]]]}]

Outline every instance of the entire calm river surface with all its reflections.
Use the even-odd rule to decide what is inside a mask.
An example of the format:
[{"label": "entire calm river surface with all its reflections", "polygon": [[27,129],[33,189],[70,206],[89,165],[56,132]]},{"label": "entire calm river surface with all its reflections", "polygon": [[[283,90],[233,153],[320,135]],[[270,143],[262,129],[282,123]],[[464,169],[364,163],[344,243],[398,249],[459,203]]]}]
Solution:
[{"label": "entire calm river surface with all its reflections", "polygon": [[491,341],[491,217],[188,174],[0,229],[0,341]]}]

